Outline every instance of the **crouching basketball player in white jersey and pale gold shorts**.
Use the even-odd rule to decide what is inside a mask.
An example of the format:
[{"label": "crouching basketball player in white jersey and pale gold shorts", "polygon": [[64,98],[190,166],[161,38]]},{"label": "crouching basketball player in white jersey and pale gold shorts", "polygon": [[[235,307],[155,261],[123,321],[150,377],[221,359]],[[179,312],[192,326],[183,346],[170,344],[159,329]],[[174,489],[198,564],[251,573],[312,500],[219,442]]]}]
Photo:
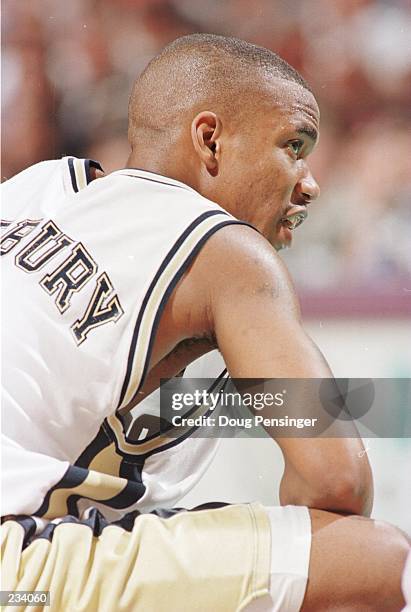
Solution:
[{"label": "crouching basketball player in white jersey and pale gold shorts", "polygon": [[358,438],[277,440],[282,507],[180,512],[214,442],[162,435],[141,402],[216,347],[233,377],[332,376],[272,248],[318,196],[318,131],[281,58],[193,35],[137,79],[125,168],[69,157],[5,183],[4,589],[70,611],[404,605],[409,544],[361,516]]}]

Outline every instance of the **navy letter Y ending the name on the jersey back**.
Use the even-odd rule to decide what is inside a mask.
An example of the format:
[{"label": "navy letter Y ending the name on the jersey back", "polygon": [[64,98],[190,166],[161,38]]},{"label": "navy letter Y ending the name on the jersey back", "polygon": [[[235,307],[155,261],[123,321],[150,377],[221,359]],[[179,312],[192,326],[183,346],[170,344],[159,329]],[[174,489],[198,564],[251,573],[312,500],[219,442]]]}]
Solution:
[{"label": "navy letter Y ending the name on the jersey back", "polygon": [[103,272],[96,281],[96,288],[86,312],[71,326],[78,345],[84,342],[90,330],[110,321],[116,323],[124,314],[117,295],[112,295],[112,292],[113,285],[106,272]]}]

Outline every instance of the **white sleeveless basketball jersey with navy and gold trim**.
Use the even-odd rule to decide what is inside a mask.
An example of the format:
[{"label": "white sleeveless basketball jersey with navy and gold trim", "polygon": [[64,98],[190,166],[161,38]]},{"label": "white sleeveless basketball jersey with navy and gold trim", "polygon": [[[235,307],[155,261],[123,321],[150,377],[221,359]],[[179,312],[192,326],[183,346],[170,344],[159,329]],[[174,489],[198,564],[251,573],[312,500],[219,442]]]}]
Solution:
[{"label": "white sleeveless basketball jersey with navy and gold trim", "polygon": [[124,169],[91,182],[90,165],[42,162],[2,186],[3,515],[170,506],[215,446],[160,435],[153,399],[134,420],[119,410],[176,283],[240,222],[178,181]]}]

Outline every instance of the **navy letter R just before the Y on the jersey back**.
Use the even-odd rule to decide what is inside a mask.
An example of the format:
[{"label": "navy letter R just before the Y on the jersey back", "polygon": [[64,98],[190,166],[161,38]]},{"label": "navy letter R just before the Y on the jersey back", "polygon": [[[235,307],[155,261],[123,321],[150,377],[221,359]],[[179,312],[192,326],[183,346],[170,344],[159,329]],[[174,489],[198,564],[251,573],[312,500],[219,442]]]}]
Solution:
[{"label": "navy letter R just before the Y on the jersey back", "polygon": [[46,274],[40,285],[49,295],[58,292],[55,302],[63,314],[70,306],[73,293],[80,291],[96,272],[97,264],[79,243],[57,270]]}]

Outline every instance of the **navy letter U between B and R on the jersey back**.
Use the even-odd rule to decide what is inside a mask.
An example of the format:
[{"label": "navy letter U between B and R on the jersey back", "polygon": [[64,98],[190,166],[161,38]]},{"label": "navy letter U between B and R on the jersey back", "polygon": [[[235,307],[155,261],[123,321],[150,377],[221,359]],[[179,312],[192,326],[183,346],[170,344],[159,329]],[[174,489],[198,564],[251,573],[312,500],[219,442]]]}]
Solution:
[{"label": "navy letter U between B and R on the jersey back", "polygon": [[47,221],[40,234],[16,255],[16,266],[25,272],[35,272],[72,242],[53,221]]}]

